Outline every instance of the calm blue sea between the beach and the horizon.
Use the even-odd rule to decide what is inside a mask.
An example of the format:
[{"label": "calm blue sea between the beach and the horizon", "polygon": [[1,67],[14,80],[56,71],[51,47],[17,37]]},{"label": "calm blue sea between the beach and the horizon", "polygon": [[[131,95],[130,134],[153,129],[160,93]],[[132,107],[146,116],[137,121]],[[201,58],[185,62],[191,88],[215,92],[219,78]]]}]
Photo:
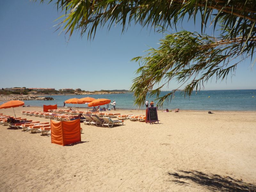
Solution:
[{"label": "calm blue sea between the beach and the horizon", "polygon": [[[162,91],[160,97],[167,94],[168,91]],[[106,98],[116,101],[116,108],[120,109],[145,109],[143,106],[134,105],[134,96],[132,92],[120,94],[103,95],[51,95],[42,97],[52,97],[54,100],[25,100],[25,105],[43,106],[55,105],[63,107],[63,102],[70,98],[93,97],[95,99]],[[155,97],[147,96],[149,102],[153,100],[155,106],[157,100]],[[111,107],[111,105],[109,105]],[[74,104],[66,104],[66,107],[74,108]],[[76,104],[76,108],[87,108],[87,104]],[[102,106],[103,108],[104,106]],[[192,92],[190,97],[185,97],[183,92],[177,91],[169,102],[164,102],[163,107],[159,109],[169,110],[180,108],[180,110],[228,110],[228,111],[256,111],[256,90],[215,90]]]}]

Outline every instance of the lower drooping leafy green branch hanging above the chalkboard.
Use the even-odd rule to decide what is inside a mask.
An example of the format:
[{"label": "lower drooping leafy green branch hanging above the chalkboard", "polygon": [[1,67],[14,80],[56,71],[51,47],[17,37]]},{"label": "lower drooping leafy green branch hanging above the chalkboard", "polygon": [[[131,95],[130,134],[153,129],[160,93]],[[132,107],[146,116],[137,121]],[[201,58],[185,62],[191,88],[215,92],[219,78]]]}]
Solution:
[{"label": "lower drooping leafy green branch hanging above the chalkboard", "polygon": [[[141,66],[132,85],[137,98],[135,103],[144,103],[148,91],[150,96],[158,97],[161,88],[168,86],[171,80],[185,84],[185,95],[191,95],[194,89],[200,90],[213,76],[225,80],[236,69],[238,63],[230,61],[240,57],[239,47],[241,49],[240,44],[225,41],[223,37],[218,39],[188,31],[166,35],[158,49],[152,48],[147,55],[133,59]],[[252,50],[243,52],[246,52],[245,58],[252,55]],[[154,85],[157,85],[156,89],[153,89]],[[158,104],[162,105],[171,95],[172,92],[160,97]]]}]

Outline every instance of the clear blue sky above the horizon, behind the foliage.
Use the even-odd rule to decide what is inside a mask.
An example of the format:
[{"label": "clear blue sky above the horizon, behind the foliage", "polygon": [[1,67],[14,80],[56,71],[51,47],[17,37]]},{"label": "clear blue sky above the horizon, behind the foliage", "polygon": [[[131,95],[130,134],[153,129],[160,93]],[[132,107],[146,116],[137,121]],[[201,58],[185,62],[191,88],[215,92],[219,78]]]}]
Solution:
[{"label": "clear blue sky above the horizon, behind the foliage", "polygon": [[[81,88],[82,90],[129,89],[138,63],[148,46],[157,48],[162,34],[131,26],[122,34],[121,27],[110,31],[98,29],[95,39],[88,41],[73,33],[60,34],[53,27],[62,13],[56,6],[28,0],[0,1],[0,88],[42,87]],[[182,24],[190,31],[200,32],[200,24]],[[181,25],[178,26],[178,29]],[[67,42],[68,41],[68,42]],[[204,84],[205,90],[256,89],[255,67],[250,60],[238,65],[236,76],[224,82]],[[177,88],[171,82],[169,88]]]}]

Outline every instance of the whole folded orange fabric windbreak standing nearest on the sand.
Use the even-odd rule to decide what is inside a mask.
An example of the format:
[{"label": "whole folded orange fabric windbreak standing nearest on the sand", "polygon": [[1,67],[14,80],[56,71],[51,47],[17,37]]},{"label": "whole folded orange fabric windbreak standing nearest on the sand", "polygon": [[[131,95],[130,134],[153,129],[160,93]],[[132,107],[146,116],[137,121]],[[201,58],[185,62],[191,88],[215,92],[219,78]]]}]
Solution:
[{"label": "whole folded orange fabric windbreak standing nearest on the sand", "polygon": [[80,119],[55,122],[51,120],[52,143],[69,145],[81,141]]}]

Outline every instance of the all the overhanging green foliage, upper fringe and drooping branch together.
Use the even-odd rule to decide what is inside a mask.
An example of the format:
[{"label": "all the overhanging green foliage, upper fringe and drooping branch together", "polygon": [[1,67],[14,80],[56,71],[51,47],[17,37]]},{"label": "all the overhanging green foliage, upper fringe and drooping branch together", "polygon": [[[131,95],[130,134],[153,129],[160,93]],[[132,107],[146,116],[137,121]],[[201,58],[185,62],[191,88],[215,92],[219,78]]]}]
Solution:
[{"label": "all the overhanging green foliage, upper fringe and drooping branch together", "polygon": [[[36,0],[34,0],[36,1]],[[41,0],[43,3],[44,0]],[[49,3],[53,0],[49,0]],[[108,29],[122,25],[123,32],[131,24],[142,27],[176,28],[185,16],[201,17],[201,34],[181,31],[161,40],[158,49],[133,60],[140,62],[138,77],[133,81],[135,103],[143,105],[148,91],[159,96],[161,88],[172,80],[185,84],[185,95],[200,90],[212,77],[224,80],[235,72],[235,58],[253,57],[256,46],[256,0],[56,0],[59,29],[72,35],[74,30],[94,38],[97,27]],[[204,34],[209,24],[221,29],[217,37]],[[231,62],[231,63],[229,63]],[[149,85],[149,86],[147,86]],[[153,90],[153,87],[158,88]],[[168,100],[172,92],[160,98]]]}]

